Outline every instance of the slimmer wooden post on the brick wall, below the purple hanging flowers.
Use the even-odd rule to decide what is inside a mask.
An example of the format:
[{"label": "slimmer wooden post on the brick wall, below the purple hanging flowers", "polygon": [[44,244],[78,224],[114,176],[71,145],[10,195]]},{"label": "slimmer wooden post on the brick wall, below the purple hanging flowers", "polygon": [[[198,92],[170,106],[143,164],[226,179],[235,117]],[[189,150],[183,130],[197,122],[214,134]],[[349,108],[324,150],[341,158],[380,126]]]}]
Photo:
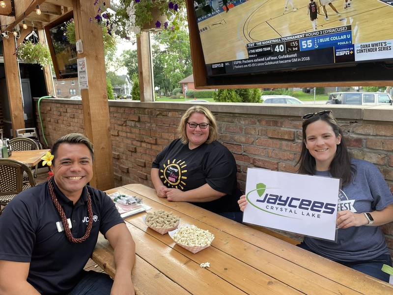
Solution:
[{"label": "slimmer wooden post on the brick wall, below the purple hanging flowers", "polygon": [[150,33],[143,31],[137,38],[140,101],[154,101],[153,66]]}]

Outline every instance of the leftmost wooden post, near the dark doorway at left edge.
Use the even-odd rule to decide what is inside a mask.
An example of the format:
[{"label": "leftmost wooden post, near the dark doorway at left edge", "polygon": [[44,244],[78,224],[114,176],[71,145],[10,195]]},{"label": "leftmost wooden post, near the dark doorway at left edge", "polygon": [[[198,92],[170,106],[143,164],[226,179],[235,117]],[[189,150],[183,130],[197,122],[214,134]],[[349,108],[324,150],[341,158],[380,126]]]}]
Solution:
[{"label": "leftmost wooden post, near the dark doorway at left edge", "polygon": [[9,110],[13,136],[15,130],[25,128],[25,118],[22,103],[21,77],[19,73],[18,59],[15,55],[15,38],[8,34],[8,39],[3,38],[3,57],[5,69],[5,82],[7,84]]}]

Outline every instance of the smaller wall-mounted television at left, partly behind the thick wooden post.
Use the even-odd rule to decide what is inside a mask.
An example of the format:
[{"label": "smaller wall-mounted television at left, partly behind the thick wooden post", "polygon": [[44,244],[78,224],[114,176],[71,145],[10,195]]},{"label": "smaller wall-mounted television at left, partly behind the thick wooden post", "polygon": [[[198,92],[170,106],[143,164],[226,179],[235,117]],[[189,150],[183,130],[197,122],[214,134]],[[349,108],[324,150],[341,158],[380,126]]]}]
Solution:
[{"label": "smaller wall-mounted television at left, partly behind the thick wooden post", "polygon": [[45,27],[57,79],[78,77],[76,45],[68,42],[64,35],[64,24],[72,17],[73,12],[71,11]]}]

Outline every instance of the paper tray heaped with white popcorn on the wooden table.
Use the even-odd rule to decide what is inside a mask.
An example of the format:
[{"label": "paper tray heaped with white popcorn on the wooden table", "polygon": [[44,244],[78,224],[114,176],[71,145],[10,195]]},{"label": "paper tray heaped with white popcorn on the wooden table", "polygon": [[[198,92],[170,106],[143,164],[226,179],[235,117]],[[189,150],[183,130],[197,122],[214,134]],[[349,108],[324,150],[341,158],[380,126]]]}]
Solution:
[{"label": "paper tray heaped with white popcorn on the wooden table", "polygon": [[188,224],[168,234],[176,244],[194,254],[209,247],[214,239],[214,235],[209,231]]}]

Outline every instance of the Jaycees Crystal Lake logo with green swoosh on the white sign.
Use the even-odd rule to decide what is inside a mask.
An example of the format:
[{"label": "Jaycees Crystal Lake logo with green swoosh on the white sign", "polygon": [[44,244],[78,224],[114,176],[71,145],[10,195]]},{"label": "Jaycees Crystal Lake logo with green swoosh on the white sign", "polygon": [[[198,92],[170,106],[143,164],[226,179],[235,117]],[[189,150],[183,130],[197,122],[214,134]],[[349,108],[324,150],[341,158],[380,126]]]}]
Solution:
[{"label": "Jaycees Crystal Lake logo with green swoosh on the white sign", "polygon": [[[256,189],[247,193],[246,199],[251,205],[267,213],[288,218],[297,218],[294,215],[321,218],[321,214],[333,214],[336,209],[336,204],[265,193],[266,188],[264,183],[256,184]],[[249,198],[254,192],[259,196],[255,202],[257,204]]]}]

